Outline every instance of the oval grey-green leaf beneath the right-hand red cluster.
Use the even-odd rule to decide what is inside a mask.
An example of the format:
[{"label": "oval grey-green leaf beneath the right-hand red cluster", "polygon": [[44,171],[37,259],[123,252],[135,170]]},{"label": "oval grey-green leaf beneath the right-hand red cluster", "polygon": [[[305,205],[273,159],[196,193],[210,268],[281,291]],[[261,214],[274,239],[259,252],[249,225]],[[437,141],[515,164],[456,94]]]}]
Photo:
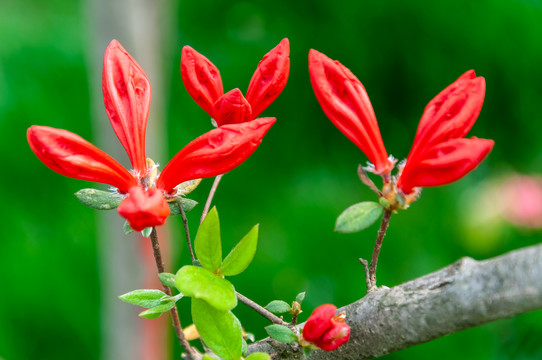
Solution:
[{"label": "oval grey-green leaf beneath the right-hand red cluster", "polygon": [[365,201],[350,206],[335,222],[335,231],[355,233],[371,226],[384,212],[379,203]]}]

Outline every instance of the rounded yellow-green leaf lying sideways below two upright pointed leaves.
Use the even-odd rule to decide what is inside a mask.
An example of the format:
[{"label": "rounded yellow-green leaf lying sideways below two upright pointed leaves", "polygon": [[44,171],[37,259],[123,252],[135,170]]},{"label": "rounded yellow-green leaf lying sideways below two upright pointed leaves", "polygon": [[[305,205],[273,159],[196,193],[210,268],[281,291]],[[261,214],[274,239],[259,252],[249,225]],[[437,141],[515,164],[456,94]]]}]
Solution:
[{"label": "rounded yellow-green leaf lying sideways below two upright pointed leaves", "polygon": [[226,311],[237,306],[233,285],[205,268],[183,266],[177,272],[175,285],[185,296],[205,300],[217,310]]}]

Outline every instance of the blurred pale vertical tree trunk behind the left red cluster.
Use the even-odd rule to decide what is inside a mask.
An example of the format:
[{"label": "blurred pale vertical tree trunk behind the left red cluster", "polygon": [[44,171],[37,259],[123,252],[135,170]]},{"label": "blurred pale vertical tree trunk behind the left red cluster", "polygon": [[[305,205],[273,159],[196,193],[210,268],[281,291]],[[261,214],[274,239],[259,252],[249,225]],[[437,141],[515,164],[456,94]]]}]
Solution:
[{"label": "blurred pale vertical tree trunk behind the left red cluster", "polygon": [[[101,149],[130,168],[126,153],[114,135],[102,97],[102,64],[105,48],[117,39],[149,77],[152,101],[147,125],[146,153],[155,161],[166,159],[165,96],[161,45],[168,42],[175,14],[169,0],[88,0],[87,63],[92,101],[94,138]],[[171,57],[168,57],[168,59]],[[171,68],[169,65],[166,69]],[[168,317],[137,317],[142,308],[124,304],[118,296],[140,288],[161,288],[157,281],[151,245],[138,235],[124,235],[124,221],[116,213],[99,214],[102,359],[163,360],[169,357]],[[159,230],[167,242],[165,228]],[[167,248],[167,244],[165,248]],[[169,265],[169,261],[167,262]]]}]

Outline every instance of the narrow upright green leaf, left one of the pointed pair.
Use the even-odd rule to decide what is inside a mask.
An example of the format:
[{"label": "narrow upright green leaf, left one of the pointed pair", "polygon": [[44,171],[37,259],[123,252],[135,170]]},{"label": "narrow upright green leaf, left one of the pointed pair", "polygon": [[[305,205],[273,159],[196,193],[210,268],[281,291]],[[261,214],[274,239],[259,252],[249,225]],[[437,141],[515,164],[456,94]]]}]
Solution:
[{"label": "narrow upright green leaf, left one of the pointed pair", "polygon": [[194,240],[196,256],[201,266],[215,272],[222,265],[222,244],[220,242],[220,222],[218,212],[213,207],[198,229]]}]

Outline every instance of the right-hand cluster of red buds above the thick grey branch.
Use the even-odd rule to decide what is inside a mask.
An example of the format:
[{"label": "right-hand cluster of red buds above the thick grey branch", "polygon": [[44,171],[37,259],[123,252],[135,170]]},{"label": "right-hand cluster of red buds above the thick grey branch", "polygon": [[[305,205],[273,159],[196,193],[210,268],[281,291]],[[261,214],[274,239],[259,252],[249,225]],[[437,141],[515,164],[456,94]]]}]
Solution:
[{"label": "right-hand cluster of red buds above the thick grey branch", "polygon": [[[382,142],[369,97],[361,82],[338,61],[311,49],[309,71],[322,109],[389,182],[393,162]],[[493,140],[464,136],[482,108],[485,80],[470,70],[438,94],[425,108],[414,145],[397,179],[403,195],[417,187],[445,185],[476,168],[493,148]]]}]

